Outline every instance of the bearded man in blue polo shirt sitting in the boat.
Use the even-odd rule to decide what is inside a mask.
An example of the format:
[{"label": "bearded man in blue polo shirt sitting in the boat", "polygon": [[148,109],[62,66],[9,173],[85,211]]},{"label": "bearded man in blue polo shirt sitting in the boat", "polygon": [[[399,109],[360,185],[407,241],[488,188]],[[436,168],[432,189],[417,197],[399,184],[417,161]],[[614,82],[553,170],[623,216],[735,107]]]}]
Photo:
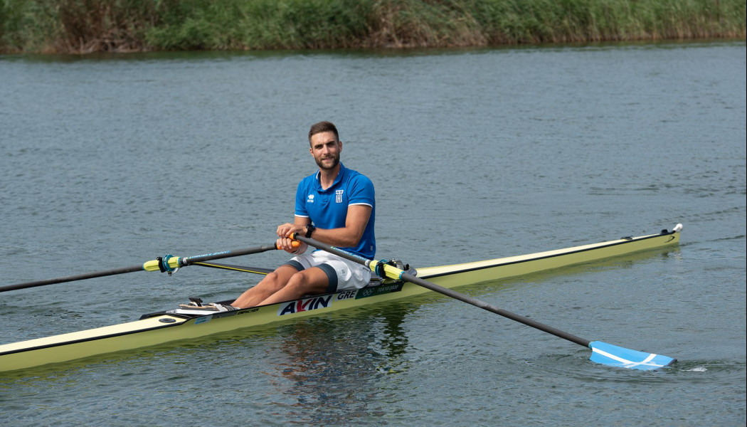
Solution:
[{"label": "bearded man in blue polo shirt sitting in the boat", "polygon": [[342,141],[334,124],[320,122],[309,130],[309,153],[319,166],[296,191],[293,224],[277,228],[277,245],[294,254],[291,260],[267,274],[223,310],[254,307],[342,289],[362,288],[371,270],[325,251],[305,254],[306,244],[294,248],[290,236],[299,233],[345,251],[373,259],[376,203],[371,179],[340,162]]}]

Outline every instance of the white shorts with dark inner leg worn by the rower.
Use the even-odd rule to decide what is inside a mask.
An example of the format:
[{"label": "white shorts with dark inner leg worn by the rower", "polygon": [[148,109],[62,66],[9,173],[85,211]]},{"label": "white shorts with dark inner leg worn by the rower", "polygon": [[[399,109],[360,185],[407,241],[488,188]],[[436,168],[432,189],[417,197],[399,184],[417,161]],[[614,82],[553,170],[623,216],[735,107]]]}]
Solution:
[{"label": "white shorts with dark inner leg worn by the rower", "polygon": [[321,268],[329,278],[326,291],[329,294],[346,289],[361,289],[371,281],[371,269],[365,265],[325,251],[297,255],[285,264],[298,271],[311,267]]}]

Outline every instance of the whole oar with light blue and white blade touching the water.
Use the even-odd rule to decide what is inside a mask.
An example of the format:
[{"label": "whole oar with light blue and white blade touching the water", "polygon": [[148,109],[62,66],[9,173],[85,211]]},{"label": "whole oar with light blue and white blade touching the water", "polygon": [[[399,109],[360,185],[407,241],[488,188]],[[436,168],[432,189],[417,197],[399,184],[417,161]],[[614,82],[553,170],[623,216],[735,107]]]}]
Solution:
[{"label": "whole oar with light blue and white blade touching the water", "polygon": [[394,267],[393,265],[389,265],[383,261],[365,259],[361,256],[350,254],[349,252],[342,251],[341,249],[335,248],[334,246],[326,245],[325,243],[317,242],[317,240],[309,239],[303,236],[294,235],[293,239],[304,242],[307,245],[314,246],[314,248],[327,251],[330,254],[335,254],[338,256],[342,256],[345,259],[359,262],[360,264],[371,268],[371,271],[378,274],[380,277],[384,277],[385,275],[386,277],[389,277],[391,279],[415,283],[418,286],[423,286],[426,289],[439,292],[451,298],[456,298],[459,301],[463,301],[467,304],[472,304],[475,307],[480,307],[483,310],[488,310],[491,313],[495,313],[508,319],[515,320],[516,322],[521,322],[524,325],[531,326],[532,328],[539,329],[540,331],[545,331],[548,334],[553,334],[564,340],[575,342],[579,345],[583,345],[584,347],[591,348],[592,355],[591,357],[589,357],[589,360],[592,360],[592,362],[629,369],[654,370],[663,368],[664,366],[669,366],[677,361],[677,359],[664,356],[662,354],[653,354],[645,353],[643,351],[630,350],[630,348],[607,344],[607,342],[584,340],[583,338],[560,331],[560,329],[556,329],[540,322],[536,322],[532,319],[528,319],[527,317],[511,313],[510,311],[506,311],[498,307],[494,307],[484,301],[480,301],[478,299],[471,298],[468,295],[464,295],[451,289],[438,286],[436,283],[431,283],[427,280],[421,279],[420,277],[415,277],[412,274],[400,270],[399,268]]}]

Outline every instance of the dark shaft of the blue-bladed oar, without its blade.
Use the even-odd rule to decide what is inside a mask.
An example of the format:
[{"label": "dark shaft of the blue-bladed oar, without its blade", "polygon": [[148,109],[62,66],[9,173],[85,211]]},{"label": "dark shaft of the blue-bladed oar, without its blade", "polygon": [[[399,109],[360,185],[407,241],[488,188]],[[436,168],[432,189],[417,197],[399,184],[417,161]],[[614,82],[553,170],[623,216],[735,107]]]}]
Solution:
[{"label": "dark shaft of the blue-bladed oar, without its blade", "polygon": [[[346,251],[342,251],[341,249],[335,248],[334,246],[327,245],[326,243],[322,243],[322,242],[317,242],[317,240],[309,239],[304,236],[296,235],[294,236],[294,239],[300,240],[301,242],[304,242],[307,245],[314,246],[314,248],[319,248],[319,249],[322,249],[323,251],[327,251],[330,254],[342,256],[345,259],[350,259],[353,262],[358,262],[359,264],[363,264],[367,266],[368,268],[371,268],[371,270],[375,268],[375,265],[373,265],[373,268],[371,266],[371,264],[375,262],[371,259],[365,259],[360,256],[350,254]],[[441,293],[451,298],[458,299],[459,301],[463,301],[467,304],[474,305],[475,307],[482,308],[483,310],[487,310],[491,313],[498,314],[499,316],[503,316],[508,319],[515,320],[516,322],[523,323],[524,325],[531,326],[532,328],[539,329],[540,331],[545,331],[548,334],[553,334],[556,337],[562,338],[563,340],[575,342],[578,345],[583,345],[584,347],[589,347],[589,343],[591,342],[589,340],[584,340],[583,338],[576,337],[573,334],[568,334],[567,332],[560,331],[560,329],[553,328],[552,326],[545,325],[544,323],[536,322],[532,319],[529,319],[524,316],[520,316],[508,310],[503,310],[498,307],[492,306],[491,304],[488,304],[485,301],[480,301],[476,298],[472,298],[460,292],[453,291],[452,289],[447,289],[447,288],[444,288],[443,286],[438,286],[436,283],[423,280],[420,277],[415,277],[412,274],[406,273],[392,265],[385,265],[384,270],[387,271],[388,273],[391,273],[387,275],[393,279],[405,280],[410,283],[415,283],[418,286],[423,286],[426,289],[430,289],[432,291]]]}]

